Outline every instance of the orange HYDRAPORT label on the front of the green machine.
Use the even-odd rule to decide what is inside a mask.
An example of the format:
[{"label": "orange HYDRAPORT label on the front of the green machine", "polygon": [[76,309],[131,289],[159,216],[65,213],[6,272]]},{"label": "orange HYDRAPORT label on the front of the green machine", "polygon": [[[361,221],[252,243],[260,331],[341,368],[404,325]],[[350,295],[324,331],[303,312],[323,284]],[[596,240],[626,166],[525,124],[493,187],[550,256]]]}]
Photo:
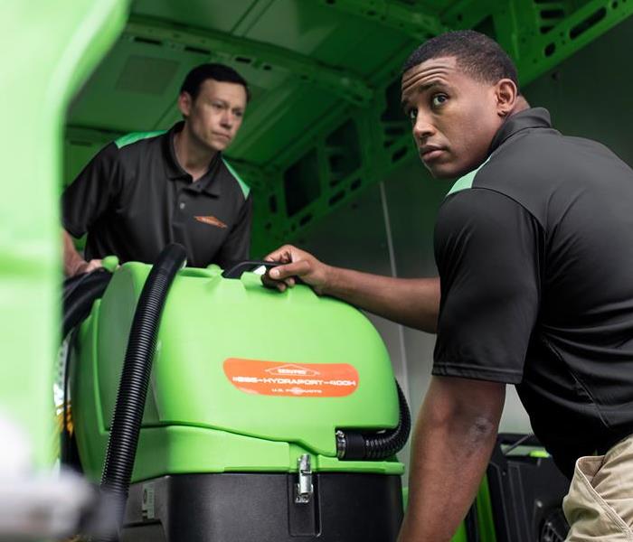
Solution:
[{"label": "orange HYDRAPORT label on the front of the green machine", "polygon": [[244,393],[287,397],[345,397],[358,388],[358,371],[347,363],[284,363],[224,360],[224,374]]}]

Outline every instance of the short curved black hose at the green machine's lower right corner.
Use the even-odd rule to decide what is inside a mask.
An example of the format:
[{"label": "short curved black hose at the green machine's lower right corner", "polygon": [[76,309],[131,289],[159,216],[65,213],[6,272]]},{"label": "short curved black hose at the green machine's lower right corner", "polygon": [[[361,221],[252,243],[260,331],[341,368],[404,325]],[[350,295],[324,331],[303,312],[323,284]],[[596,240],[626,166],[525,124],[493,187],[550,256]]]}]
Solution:
[{"label": "short curved black hose at the green machine's lower right corner", "polygon": [[336,431],[336,454],[347,461],[381,460],[398,453],[407,443],[411,431],[411,414],[407,399],[396,380],[400,416],[394,429],[367,434],[339,429]]}]

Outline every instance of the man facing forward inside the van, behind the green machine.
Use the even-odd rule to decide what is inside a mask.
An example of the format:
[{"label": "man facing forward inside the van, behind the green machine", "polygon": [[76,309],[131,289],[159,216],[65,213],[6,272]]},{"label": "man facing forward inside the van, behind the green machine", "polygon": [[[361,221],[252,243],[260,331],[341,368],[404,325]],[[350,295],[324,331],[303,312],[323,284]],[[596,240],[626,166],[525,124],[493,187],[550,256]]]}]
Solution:
[{"label": "man facing forward inside the van, behind the green machine", "polygon": [[[62,196],[66,275],[91,271],[109,255],[151,263],[170,242],[186,248],[188,266],[246,259],[250,189],[222,151],[237,135],[248,98],[235,70],[203,64],[184,79],[184,121],[104,147]],[[86,232],[84,259],[71,236]]]}]

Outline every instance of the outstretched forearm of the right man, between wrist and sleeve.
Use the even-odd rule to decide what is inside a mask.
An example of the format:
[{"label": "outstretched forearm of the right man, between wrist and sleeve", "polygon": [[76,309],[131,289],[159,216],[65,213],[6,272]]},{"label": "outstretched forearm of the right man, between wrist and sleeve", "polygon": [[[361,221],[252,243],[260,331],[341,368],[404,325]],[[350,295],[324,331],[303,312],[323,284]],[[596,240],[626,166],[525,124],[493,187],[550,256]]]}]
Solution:
[{"label": "outstretched forearm of the right man, between wrist and sleeve", "polygon": [[329,267],[324,294],[393,322],[434,333],[439,313],[439,278],[393,278]]}]

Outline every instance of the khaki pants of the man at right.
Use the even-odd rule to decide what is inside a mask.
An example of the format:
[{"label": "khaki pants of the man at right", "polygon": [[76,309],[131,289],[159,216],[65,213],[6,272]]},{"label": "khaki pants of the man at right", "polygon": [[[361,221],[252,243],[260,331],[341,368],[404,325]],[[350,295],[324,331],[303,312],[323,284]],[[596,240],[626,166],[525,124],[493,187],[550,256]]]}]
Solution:
[{"label": "khaki pants of the man at right", "polygon": [[562,510],[568,542],[633,542],[633,435],[605,455],[576,462]]}]

